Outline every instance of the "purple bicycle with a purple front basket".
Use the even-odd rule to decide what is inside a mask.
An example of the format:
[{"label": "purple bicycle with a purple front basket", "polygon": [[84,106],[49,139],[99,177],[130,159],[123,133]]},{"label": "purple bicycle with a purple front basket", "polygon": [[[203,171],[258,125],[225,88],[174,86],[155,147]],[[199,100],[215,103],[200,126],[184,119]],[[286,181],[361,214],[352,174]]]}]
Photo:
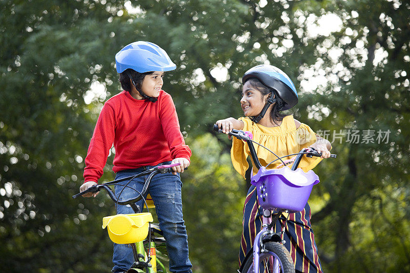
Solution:
[{"label": "purple bicycle with a purple front basket", "polygon": [[[213,130],[222,133],[222,130],[216,124],[214,124]],[[245,256],[238,272],[294,273],[294,262],[288,249],[283,245],[284,241],[281,239],[286,223],[283,225],[281,232],[276,233],[274,232],[276,230],[276,221],[282,213],[287,213],[289,217],[289,213],[302,211],[306,202],[308,202],[313,185],[319,183],[319,177],[312,170],[305,173],[297,167],[303,155],[320,157],[322,154],[309,148],[302,149],[297,154],[279,157],[268,148],[253,141],[250,132],[234,129],[229,132],[229,135],[244,140],[249,146],[252,161],[258,169],[258,173],[251,177],[251,183],[256,186],[258,203],[263,209],[262,230],[255,236],[253,247]],[[252,142],[267,149],[278,159],[270,162],[267,166],[262,166]],[[289,156],[296,156],[291,168],[286,167],[286,165],[291,163],[293,159],[286,161],[282,159]],[[336,155],[332,154],[331,157],[336,158]],[[266,169],[277,160],[280,160],[284,167]]]}]

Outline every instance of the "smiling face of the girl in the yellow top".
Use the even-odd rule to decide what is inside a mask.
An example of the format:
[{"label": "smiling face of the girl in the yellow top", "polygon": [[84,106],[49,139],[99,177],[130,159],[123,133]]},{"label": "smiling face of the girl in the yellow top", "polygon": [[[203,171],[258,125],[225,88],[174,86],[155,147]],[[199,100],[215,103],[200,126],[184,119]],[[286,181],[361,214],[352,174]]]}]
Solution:
[{"label": "smiling face of the girl in the yellow top", "polygon": [[242,88],[242,98],[240,104],[243,114],[247,117],[257,116],[265,106],[269,94],[263,96],[259,90],[255,89],[250,81],[245,82]]}]

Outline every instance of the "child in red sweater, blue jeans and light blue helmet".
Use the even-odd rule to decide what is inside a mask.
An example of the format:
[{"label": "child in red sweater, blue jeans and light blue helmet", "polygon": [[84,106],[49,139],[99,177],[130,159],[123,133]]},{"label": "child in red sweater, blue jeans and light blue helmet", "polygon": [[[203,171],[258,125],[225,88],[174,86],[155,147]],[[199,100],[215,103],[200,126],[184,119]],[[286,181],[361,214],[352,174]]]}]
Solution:
[{"label": "child in red sweater, blue jeans and light blue helmet", "polygon": [[[164,71],[174,70],[176,66],[167,52],[146,41],[137,41],[120,50],[115,55],[115,62],[124,91],[110,98],[99,114],[85,159],[85,183],[80,192],[95,185],[103,175],[113,143],[115,179],[133,176],[171,161],[179,163],[173,167],[173,174],[156,175],[149,193],[166,239],[170,270],[192,273],[182,217],[182,182],[178,174],[189,166],[191,150],[179,130],[174,102],[162,90]],[[132,188],[141,192],[143,185],[144,177],[133,179],[122,191],[122,200],[135,196],[137,192]],[[121,192],[122,188],[121,185],[115,186],[115,192]],[[93,194],[86,197],[90,196]],[[142,202],[138,204],[140,207]],[[131,207],[117,206],[117,214],[131,213]],[[114,244],[113,272],[125,272],[133,262],[131,247]]]}]

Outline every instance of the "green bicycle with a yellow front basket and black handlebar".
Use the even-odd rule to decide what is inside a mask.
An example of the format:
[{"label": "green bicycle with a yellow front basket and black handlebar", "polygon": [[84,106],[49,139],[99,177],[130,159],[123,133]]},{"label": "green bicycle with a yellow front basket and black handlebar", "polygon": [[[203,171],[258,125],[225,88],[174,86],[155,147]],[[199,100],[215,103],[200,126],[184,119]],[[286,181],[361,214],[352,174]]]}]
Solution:
[{"label": "green bicycle with a yellow front basket and black handlebar", "polygon": [[[159,165],[153,167],[150,170],[141,172],[134,176],[129,176],[121,178],[118,180],[110,181],[104,184],[97,184],[89,187],[86,191],[79,194],[73,195],[73,198],[82,196],[86,193],[97,193],[104,188],[108,196],[115,202],[116,205],[130,205],[134,214],[117,214],[113,216],[107,216],[103,218],[103,228],[107,227],[108,235],[114,243],[117,244],[130,244],[132,247],[134,255],[134,264],[127,271],[131,272],[146,272],[146,273],[156,273],[156,272],[167,272],[163,262],[168,262],[166,249],[164,252],[158,250],[157,245],[165,245],[165,239],[163,236],[159,225],[151,224],[153,217],[150,212],[142,213],[144,209],[144,204],[148,208],[155,208],[152,202],[151,196],[147,195],[147,190],[150,186],[152,178],[159,173],[172,172],[172,167],[177,166],[179,163],[169,164],[169,165]],[[122,191],[118,194],[118,197],[114,194],[113,190],[109,187],[111,185],[116,185],[122,181],[128,181],[130,183],[134,178],[148,175],[147,180],[142,187],[142,191],[137,192],[137,196],[130,198],[128,200],[120,201],[119,197]],[[123,187],[129,187],[126,183]],[[136,203],[144,199],[144,204],[140,208]],[[146,246],[146,247],[145,247]]]}]

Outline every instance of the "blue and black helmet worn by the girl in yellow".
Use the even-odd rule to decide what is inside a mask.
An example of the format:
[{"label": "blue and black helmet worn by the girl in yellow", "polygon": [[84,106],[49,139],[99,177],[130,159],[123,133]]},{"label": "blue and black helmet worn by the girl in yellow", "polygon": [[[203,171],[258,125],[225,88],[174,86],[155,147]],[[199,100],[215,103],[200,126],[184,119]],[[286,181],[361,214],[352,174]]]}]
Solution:
[{"label": "blue and black helmet worn by the girl in yellow", "polygon": [[242,77],[244,84],[250,78],[257,78],[264,86],[272,88],[284,103],[279,111],[291,109],[298,103],[298,93],[292,80],[282,70],[271,65],[251,68]]}]

